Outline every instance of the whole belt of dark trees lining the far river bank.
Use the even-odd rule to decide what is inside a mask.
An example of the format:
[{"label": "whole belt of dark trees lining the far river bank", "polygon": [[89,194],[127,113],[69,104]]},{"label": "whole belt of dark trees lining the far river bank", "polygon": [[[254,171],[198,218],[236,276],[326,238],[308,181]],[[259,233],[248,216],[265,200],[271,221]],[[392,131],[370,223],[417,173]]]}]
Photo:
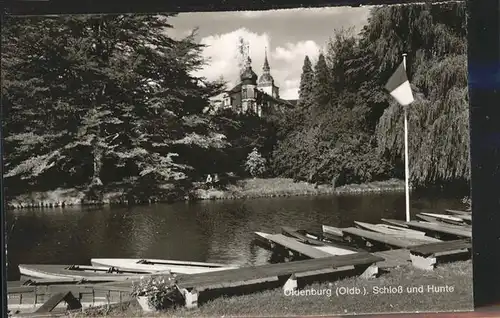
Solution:
[{"label": "whole belt of dark trees lining the far river bank", "polygon": [[[463,3],[372,9],[359,34],[333,30],[304,57],[298,106],[267,118],[203,113],[221,81],[194,33],[174,40],[169,15],[9,18],[2,30],[7,195],[76,188],[88,197],[183,196],[207,174],[266,174],[315,183],[402,177],[402,108],[384,85],[408,53],[416,185],[467,181]],[[247,41],[240,39],[235,67]],[[255,159],[254,158],[254,159]],[[251,158],[250,158],[251,159]],[[253,159],[252,159],[253,160]]]}]

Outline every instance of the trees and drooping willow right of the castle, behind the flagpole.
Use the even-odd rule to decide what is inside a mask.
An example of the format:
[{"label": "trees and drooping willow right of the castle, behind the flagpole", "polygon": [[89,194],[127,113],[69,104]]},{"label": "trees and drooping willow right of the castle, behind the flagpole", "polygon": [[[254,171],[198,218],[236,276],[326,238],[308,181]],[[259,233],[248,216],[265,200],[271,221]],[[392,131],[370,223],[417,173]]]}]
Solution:
[{"label": "trees and drooping willow right of the castle, behind the flagpole", "polygon": [[302,124],[278,137],[275,173],[336,185],[402,177],[403,109],[384,85],[408,53],[412,182],[468,180],[465,23],[463,3],[415,4],[372,9],[360,34],[336,30],[314,70],[314,111],[297,110]]}]

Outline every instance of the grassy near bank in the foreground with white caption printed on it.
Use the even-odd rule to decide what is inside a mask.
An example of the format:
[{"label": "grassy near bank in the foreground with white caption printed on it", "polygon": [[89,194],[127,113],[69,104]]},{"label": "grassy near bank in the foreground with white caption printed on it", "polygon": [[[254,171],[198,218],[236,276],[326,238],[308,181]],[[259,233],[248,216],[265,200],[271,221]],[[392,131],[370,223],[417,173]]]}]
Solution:
[{"label": "grassy near bank in the foreground with white caption printed on it", "polygon": [[[357,287],[367,294],[337,295],[339,288]],[[392,293],[383,293],[384,287]],[[472,310],[472,261],[443,264],[432,272],[412,266],[393,269],[372,279],[359,277],[324,282],[301,289],[308,295],[285,295],[282,289],[221,297],[198,308],[143,313],[132,303],[123,309],[87,310],[71,317],[224,317],[437,312]]]}]

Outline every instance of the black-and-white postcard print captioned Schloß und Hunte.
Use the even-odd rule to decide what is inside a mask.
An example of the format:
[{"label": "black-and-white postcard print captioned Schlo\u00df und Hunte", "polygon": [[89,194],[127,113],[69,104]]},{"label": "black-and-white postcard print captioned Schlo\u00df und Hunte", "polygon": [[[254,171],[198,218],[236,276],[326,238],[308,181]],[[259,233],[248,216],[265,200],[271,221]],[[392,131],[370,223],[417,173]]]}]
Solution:
[{"label": "black-and-white postcard print captioned Schlo\u00df und Hunte", "polygon": [[9,313],[473,310],[466,16],[7,17]]}]

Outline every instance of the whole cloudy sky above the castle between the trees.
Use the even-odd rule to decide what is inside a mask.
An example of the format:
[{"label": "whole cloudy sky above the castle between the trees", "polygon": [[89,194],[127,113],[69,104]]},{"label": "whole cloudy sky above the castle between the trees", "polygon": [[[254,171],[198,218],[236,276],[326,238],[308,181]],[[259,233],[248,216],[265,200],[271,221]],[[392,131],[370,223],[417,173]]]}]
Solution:
[{"label": "whole cloudy sky above the castle between the trees", "polygon": [[369,8],[332,7],[269,11],[193,12],[171,17],[175,38],[184,37],[195,28],[197,41],[209,63],[195,75],[208,80],[221,76],[228,89],[239,82],[238,39],[249,43],[252,68],[258,76],[267,48],[271,75],[283,99],[297,99],[302,65],[306,55],[315,63],[320,50],[335,29],[366,24]]}]

